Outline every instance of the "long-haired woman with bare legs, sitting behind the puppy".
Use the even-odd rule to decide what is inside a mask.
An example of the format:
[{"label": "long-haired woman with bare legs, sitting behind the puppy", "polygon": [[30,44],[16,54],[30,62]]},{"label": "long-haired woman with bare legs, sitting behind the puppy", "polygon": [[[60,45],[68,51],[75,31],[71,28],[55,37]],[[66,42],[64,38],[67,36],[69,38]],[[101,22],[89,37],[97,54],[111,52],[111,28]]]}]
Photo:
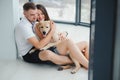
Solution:
[{"label": "long-haired woman with bare legs, sitting behind the puppy", "polygon": [[[37,15],[38,15],[38,18],[37,18],[37,21],[44,21],[44,20],[50,20],[49,16],[48,16],[48,13],[47,13],[47,10],[45,9],[45,7],[41,4],[37,4],[36,5],[37,7]],[[54,25],[54,22],[52,21],[52,25]],[[37,28],[35,28],[36,30],[36,33],[37,35],[42,38],[41,36],[41,33],[38,31]],[[76,54],[73,54],[75,55],[74,57],[78,59],[78,61],[85,67],[85,68],[88,68],[88,59],[89,59],[89,47],[88,47],[88,43],[85,42],[85,41],[82,41],[82,42],[78,42],[76,43],[75,46],[73,46],[73,41],[71,40],[68,40],[68,44],[66,43],[66,34],[65,33],[61,33],[60,35],[60,38],[63,40],[62,43],[56,45],[57,47],[57,50],[58,52],[61,54],[61,55],[66,55],[67,53],[67,50],[68,49],[65,49],[66,46],[69,47],[69,51],[71,53],[73,52],[76,52]],[[72,47],[74,47],[75,49],[73,50]],[[82,55],[82,53],[84,54],[84,56]],[[80,54],[80,55],[79,55]],[[56,55],[56,54],[55,54]],[[57,55],[58,56],[58,55]],[[80,58],[81,57],[81,58]],[[55,59],[58,58],[58,57],[55,57]],[[84,61],[83,61],[84,60]],[[56,64],[59,64],[59,63],[56,63]]]}]

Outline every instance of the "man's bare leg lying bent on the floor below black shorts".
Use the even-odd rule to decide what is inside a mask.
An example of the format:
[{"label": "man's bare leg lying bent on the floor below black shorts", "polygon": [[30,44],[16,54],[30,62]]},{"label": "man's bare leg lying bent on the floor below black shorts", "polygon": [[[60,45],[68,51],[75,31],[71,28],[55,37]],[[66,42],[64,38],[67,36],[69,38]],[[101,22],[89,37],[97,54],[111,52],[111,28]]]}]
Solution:
[{"label": "man's bare leg lying bent on the floor below black shorts", "polygon": [[39,58],[43,61],[51,61],[58,65],[65,65],[65,64],[73,63],[68,56],[58,55],[49,50],[45,50],[41,52],[39,54]]}]

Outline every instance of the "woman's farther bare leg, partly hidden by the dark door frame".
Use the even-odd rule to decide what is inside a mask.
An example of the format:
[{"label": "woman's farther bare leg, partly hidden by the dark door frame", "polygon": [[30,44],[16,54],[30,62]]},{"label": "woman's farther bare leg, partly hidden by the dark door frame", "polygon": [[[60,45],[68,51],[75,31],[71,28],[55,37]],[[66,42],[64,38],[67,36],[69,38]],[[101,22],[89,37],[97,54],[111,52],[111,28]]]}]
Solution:
[{"label": "woman's farther bare leg, partly hidden by the dark door frame", "polygon": [[81,52],[85,55],[85,57],[89,60],[89,44],[86,41],[81,41],[76,43],[78,48],[81,50]]}]

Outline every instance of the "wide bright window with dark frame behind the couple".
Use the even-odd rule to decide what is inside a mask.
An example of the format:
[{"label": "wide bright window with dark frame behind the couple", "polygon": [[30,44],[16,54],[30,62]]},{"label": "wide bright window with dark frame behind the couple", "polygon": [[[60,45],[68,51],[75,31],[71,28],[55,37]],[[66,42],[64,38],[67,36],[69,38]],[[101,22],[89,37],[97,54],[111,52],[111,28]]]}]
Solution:
[{"label": "wide bright window with dark frame behind the couple", "polygon": [[46,7],[50,18],[60,23],[90,26],[91,0],[19,0],[22,15],[22,3],[32,1]]}]

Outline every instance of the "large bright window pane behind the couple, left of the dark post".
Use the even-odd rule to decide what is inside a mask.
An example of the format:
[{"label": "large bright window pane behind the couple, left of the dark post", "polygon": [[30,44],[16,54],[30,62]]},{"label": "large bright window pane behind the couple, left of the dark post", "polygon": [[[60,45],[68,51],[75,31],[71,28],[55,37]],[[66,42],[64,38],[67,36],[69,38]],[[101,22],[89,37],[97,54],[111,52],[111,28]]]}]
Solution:
[{"label": "large bright window pane behind the couple, left of the dark post", "polygon": [[44,5],[51,19],[75,22],[76,0],[33,0]]}]

